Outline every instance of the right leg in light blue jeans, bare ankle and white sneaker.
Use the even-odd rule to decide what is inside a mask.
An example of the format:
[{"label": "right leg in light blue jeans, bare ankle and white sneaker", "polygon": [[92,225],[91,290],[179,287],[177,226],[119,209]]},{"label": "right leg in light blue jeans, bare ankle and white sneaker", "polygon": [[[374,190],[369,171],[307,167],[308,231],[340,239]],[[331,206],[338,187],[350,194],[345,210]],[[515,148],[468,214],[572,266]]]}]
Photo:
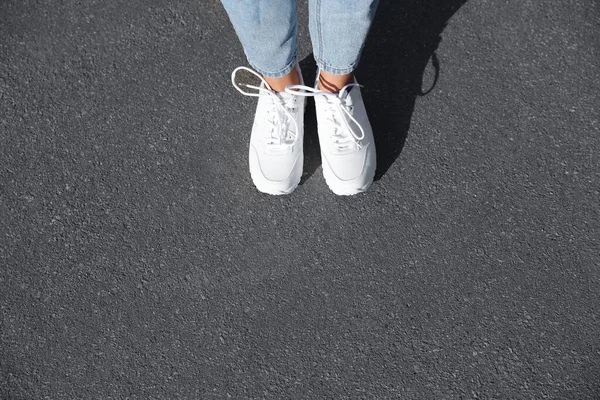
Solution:
[{"label": "right leg in light blue jeans, bare ankle and white sneaker", "polygon": [[[309,28],[319,72],[314,96],[323,175],[336,194],[364,192],[373,182],[373,131],[354,70],[378,0],[310,0]],[[288,89],[288,90],[290,90]],[[290,93],[292,93],[290,91]]]}]

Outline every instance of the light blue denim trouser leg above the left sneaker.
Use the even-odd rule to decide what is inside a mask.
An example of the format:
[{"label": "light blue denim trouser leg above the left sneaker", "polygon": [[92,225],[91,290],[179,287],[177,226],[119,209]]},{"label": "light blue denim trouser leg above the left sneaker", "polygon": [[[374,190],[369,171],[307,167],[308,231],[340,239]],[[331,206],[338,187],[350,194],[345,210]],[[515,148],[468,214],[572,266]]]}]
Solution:
[{"label": "light blue denim trouser leg above the left sneaker", "polygon": [[297,63],[296,0],[221,0],[248,62],[258,73],[280,78]]}]

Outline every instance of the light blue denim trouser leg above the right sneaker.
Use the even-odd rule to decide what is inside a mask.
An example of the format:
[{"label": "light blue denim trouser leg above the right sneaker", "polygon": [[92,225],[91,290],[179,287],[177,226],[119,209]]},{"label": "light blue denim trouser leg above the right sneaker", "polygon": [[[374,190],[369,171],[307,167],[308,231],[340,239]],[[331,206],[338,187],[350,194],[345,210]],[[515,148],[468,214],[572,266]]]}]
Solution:
[{"label": "light blue denim trouser leg above the right sneaker", "polygon": [[310,0],[309,29],[317,65],[331,74],[356,69],[379,0]]}]

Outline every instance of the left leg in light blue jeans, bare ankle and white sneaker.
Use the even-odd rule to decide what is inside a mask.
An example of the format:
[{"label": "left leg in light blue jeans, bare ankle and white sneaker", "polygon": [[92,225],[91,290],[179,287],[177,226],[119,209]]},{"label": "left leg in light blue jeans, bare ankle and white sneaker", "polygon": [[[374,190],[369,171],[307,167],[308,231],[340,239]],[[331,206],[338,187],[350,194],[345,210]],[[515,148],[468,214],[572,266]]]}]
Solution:
[{"label": "left leg in light blue jeans, bare ankle and white sneaker", "polygon": [[[304,159],[305,101],[283,92],[285,86],[303,82],[296,54],[296,0],[221,1],[257,71],[239,67],[231,78],[242,94],[258,97],[250,134],[250,176],[261,192],[291,193],[300,183]],[[237,82],[237,72],[244,69],[260,79],[259,86]]]}]

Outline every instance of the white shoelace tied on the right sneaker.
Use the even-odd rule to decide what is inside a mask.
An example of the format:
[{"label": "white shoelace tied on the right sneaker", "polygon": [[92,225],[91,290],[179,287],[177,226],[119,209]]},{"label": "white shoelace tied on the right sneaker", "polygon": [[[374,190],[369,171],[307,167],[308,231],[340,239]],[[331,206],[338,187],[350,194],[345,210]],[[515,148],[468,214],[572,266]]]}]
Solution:
[{"label": "white shoelace tied on the right sneaker", "polygon": [[[285,88],[287,93],[296,95],[296,96],[305,96],[305,97],[315,97],[315,96],[325,96],[327,103],[330,106],[330,111],[333,111],[332,115],[339,115],[339,119],[341,122],[335,120],[335,117],[329,119],[329,121],[334,126],[334,134],[336,139],[334,143],[338,146],[338,148],[343,148],[346,146],[347,141],[343,140],[348,136],[344,136],[342,133],[344,131],[350,133],[349,139],[354,142],[358,148],[361,148],[361,140],[365,137],[365,130],[358,123],[356,118],[352,115],[350,107],[346,104],[346,98],[349,96],[348,90],[354,86],[361,86],[358,83],[349,83],[339,91],[339,93],[329,93],[324,90],[319,90],[315,88],[311,88],[309,86],[304,85],[291,85]],[[354,122],[358,129],[360,130],[360,135],[356,133],[355,129],[352,129],[350,126],[350,122],[348,118],[344,117],[346,115],[350,121]],[[344,128],[344,129],[342,129]],[[340,140],[340,138],[342,140]]]}]

